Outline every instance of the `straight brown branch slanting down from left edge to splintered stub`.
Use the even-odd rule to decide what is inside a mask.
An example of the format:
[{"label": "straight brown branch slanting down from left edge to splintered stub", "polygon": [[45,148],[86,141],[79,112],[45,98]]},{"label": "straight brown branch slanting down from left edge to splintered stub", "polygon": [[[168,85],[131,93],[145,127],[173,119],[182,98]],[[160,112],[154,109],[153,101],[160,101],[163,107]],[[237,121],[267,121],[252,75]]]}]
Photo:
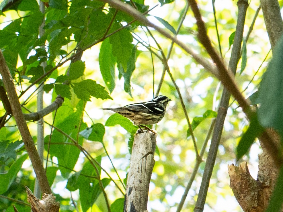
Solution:
[{"label": "straight brown branch slanting down from left edge to splintered stub", "polygon": [[3,83],[7,90],[12,113],[14,115],[15,121],[17,123],[17,127],[20,131],[26,150],[28,152],[28,156],[30,157],[30,160],[32,162],[32,167],[36,174],[36,178],[38,179],[41,191],[46,194],[51,194],[51,189],[49,187],[48,180],[44,168],[42,166],[42,162],[35,148],[34,141],[32,140],[32,136],[30,135],[28,125],[24,119],[24,115],[21,109],[21,104],[19,102],[13,84],[13,79],[10,74],[9,68],[5,62],[2,51],[0,51],[0,74],[2,75]]}]

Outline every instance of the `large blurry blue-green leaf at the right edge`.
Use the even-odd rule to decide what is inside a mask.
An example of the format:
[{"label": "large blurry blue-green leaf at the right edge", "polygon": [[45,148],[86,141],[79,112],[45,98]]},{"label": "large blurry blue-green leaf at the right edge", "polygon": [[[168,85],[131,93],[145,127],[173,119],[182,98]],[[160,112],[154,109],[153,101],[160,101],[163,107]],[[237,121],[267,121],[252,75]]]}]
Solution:
[{"label": "large blurry blue-green leaf at the right edge", "polygon": [[272,60],[259,84],[259,123],[274,127],[283,136],[283,36],[277,41]]}]

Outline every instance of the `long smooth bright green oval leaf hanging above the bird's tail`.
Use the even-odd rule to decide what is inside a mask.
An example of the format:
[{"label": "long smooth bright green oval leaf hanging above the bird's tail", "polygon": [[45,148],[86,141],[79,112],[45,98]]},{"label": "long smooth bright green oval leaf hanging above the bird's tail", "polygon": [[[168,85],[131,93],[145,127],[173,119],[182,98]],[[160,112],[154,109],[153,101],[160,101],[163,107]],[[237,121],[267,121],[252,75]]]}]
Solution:
[{"label": "long smooth bright green oval leaf hanging above the bird's tail", "polygon": [[109,38],[107,38],[102,42],[100,47],[99,67],[103,80],[110,93],[112,93],[115,88],[115,64],[116,59],[112,54]]}]

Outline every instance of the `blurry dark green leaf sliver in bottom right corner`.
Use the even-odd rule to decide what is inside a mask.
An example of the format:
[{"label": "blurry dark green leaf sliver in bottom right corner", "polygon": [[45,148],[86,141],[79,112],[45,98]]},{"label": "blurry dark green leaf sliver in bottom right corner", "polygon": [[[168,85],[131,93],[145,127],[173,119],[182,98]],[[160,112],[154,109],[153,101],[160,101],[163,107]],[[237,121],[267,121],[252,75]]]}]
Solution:
[{"label": "blurry dark green leaf sliver in bottom right corner", "polygon": [[271,195],[266,212],[279,212],[282,209],[283,166],[280,167],[277,182]]}]

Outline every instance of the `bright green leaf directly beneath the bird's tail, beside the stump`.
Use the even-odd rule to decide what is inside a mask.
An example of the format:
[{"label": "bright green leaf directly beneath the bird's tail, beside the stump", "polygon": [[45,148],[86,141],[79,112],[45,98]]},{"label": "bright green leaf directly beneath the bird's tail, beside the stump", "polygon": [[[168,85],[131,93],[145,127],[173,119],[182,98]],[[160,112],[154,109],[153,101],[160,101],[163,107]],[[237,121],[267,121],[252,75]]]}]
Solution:
[{"label": "bright green leaf directly beneath the bird's tail, beside the stump", "polygon": [[118,113],[115,113],[113,114],[112,116],[110,116],[106,123],[105,123],[105,126],[114,126],[116,124],[119,124],[121,125],[121,127],[123,127],[124,129],[126,129],[129,133],[132,133],[132,132],[136,132],[136,130],[138,129],[137,126],[133,125],[132,122],[127,119],[126,117],[118,114]]}]

